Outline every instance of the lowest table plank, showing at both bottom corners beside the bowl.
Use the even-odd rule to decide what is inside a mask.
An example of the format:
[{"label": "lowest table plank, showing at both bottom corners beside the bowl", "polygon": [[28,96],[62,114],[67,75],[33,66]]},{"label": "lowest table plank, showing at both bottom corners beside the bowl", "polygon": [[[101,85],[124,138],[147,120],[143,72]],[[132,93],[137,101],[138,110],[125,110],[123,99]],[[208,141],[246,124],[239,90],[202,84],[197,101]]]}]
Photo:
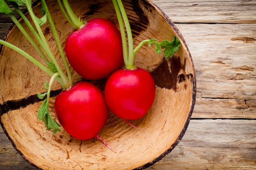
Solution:
[{"label": "lowest table plank, showing at both bottom corners beside the bowl", "polygon": [[[180,144],[147,170],[254,169],[255,132],[256,120],[192,119]],[[35,169],[18,155],[7,137],[2,136],[2,129],[0,135],[0,169]]]}]

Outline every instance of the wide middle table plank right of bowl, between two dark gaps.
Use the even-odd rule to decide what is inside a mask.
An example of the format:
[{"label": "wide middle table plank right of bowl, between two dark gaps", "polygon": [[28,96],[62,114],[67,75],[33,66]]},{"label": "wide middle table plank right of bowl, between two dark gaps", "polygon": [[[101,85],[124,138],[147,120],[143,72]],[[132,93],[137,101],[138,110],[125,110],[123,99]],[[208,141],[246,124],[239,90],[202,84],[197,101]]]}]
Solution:
[{"label": "wide middle table plank right of bowl, between two dark gaps", "polygon": [[193,118],[256,118],[256,24],[176,24],[197,77]]}]

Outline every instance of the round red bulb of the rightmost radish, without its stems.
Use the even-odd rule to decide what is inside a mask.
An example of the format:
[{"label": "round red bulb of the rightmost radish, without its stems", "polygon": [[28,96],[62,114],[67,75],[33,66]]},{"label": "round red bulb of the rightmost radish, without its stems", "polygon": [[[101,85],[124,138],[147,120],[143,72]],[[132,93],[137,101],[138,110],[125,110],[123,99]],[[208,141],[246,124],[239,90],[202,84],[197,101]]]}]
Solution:
[{"label": "round red bulb of the rightmost radish, without its stems", "polygon": [[142,68],[118,70],[108,78],[105,99],[110,110],[118,117],[139,119],[154,102],[154,79]]}]

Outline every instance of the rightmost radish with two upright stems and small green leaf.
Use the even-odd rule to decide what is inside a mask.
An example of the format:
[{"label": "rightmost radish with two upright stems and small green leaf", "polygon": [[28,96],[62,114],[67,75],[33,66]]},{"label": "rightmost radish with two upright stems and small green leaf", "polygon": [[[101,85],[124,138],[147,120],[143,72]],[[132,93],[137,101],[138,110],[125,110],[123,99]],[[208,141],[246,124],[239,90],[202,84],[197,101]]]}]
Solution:
[{"label": "rightmost radish with two upright stems and small green leaf", "polygon": [[[128,120],[143,117],[153,105],[155,98],[155,82],[148,71],[134,65],[134,57],[137,50],[148,42],[149,47],[155,44],[156,52],[164,50],[166,59],[172,57],[178,50],[180,41],[176,37],[172,42],[164,40],[158,43],[155,39],[142,41],[133,49],[132,32],[126,15],[126,11],[121,0],[112,0],[117,18],[119,21],[121,37],[123,41],[124,64],[125,68],[115,71],[110,75],[105,86],[105,99],[108,107],[118,117]],[[128,45],[126,40],[127,31]],[[130,124],[132,125],[132,124]],[[136,128],[136,126],[132,125]]]}]

